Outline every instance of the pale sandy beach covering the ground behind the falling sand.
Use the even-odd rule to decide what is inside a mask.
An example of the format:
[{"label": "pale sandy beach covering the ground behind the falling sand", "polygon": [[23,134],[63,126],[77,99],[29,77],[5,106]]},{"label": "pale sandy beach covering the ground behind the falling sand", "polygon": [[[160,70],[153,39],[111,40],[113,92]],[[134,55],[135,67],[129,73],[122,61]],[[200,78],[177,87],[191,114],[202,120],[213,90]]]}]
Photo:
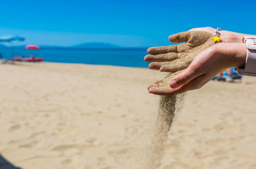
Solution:
[{"label": "pale sandy beach covering the ground behind the falling sand", "polygon": [[[48,62],[0,65],[0,154],[28,169],[127,168],[127,154],[157,114],[159,96],[147,86],[164,74]],[[160,168],[256,168],[255,87],[256,78],[244,77],[188,92]]]}]

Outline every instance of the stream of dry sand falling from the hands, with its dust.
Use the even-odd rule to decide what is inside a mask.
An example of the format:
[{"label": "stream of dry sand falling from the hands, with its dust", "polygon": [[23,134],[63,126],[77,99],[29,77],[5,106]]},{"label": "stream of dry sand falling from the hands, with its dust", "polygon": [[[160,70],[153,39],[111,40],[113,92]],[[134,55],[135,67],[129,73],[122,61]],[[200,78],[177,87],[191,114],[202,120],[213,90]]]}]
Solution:
[{"label": "stream of dry sand falling from the hands, with its dust", "polygon": [[164,145],[168,139],[168,132],[174,115],[182,108],[184,96],[183,93],[173,97],[160,97],[159,111],[154,122],[144,131],[144,134],[137,136],[132,145],[115,154],[120,168],[159,168],[164,156]]}]

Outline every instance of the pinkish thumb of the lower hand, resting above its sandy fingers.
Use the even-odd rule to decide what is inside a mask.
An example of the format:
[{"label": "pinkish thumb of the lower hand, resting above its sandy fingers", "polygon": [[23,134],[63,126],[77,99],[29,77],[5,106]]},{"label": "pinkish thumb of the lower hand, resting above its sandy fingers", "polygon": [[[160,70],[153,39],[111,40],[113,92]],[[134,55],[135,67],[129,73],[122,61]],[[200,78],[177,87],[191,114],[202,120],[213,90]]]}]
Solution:
[{"label": "pinkish thumb of the lower hand, resting above its sandy fingers", "polygon": [[178,88],[200,75],[198,71],[188,67],[184,72],[178,74],[170,81],[170,87],[172,89]]}]

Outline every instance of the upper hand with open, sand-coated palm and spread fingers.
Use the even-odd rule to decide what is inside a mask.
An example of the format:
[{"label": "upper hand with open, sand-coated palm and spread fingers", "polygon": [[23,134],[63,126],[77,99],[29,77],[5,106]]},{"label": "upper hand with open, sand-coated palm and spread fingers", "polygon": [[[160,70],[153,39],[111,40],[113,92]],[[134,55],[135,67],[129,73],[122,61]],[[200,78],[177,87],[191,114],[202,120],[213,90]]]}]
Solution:
[{"label": "upper hand with open, sand-coated palm and spread fingers", "polygon": [[[213,31],[214,32],[214,31]],[[169,36],[172,43],[181,43],[167,47],[152,47],[147,50],[150,55],[144,60],[151,62],[150,69],[163,72],[175,72],[186,69],[194,57],[204,49],[214,45],[213,33],[205,31],[187,31]]]}]

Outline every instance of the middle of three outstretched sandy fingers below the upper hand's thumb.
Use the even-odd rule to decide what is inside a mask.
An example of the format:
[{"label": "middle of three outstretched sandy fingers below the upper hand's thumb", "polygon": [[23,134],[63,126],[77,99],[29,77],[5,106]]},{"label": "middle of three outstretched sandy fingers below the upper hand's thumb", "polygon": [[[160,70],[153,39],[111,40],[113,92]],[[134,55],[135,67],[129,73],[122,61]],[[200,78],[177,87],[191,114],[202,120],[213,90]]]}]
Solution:
[{"label": "middle of three outstretched sandy fingers below the upper hand's thumb", "polygon": [[178,53],[166,53],[166,54],[157,54],[157,55],[146,55],[144,57],[145,61],[152,62],[152,61],[172,61],[178,59]]}]

